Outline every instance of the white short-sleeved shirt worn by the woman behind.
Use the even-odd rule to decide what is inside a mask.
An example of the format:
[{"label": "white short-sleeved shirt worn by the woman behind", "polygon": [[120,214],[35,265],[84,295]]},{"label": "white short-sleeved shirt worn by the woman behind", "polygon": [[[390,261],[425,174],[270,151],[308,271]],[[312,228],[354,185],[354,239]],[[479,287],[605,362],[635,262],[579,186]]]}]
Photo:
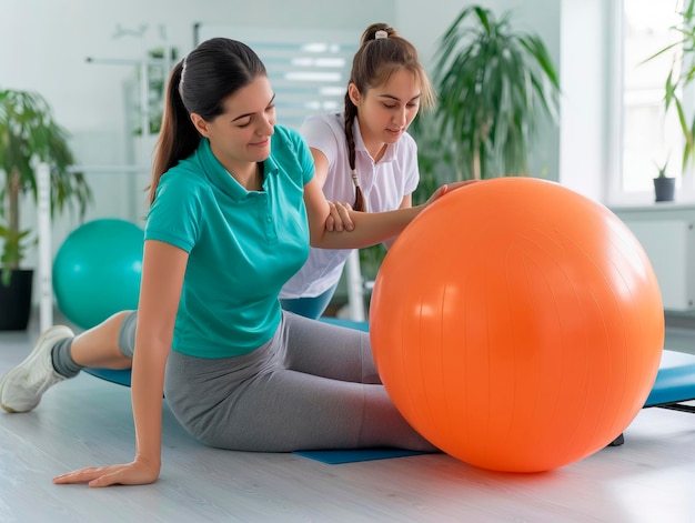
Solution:
[{"label": "white short-sleeved shirt worn by the woman behind", "polygon": [[[386,145],[384,155],[375,163],[364,147],[356,119],[354,131],[355,169],[369,211],[397,209],[403,198],[411,194],[420,181],[415,140],[404,133],[397,142]],[[354,203],[355,188],[348,162],[343,113],[309,117],[300,132],[309,147],[323,152],[329,161],[329,172],[323,185],[325,198]],[[311,248],[309,260],[285,283],[280,298],[313,298],[322,294],[340,280],[350,252],[350,249]]]}]

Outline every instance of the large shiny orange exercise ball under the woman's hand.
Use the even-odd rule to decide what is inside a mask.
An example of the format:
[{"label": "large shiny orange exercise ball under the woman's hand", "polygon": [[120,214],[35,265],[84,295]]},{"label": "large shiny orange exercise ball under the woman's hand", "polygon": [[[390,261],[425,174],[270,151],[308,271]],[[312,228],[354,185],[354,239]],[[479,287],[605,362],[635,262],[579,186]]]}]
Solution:
[{"label": "large shiny orange exercise ball under the woman's hand", "polygon": [[472,465],[540,472],[605,447],[652,390],[656,276],[605,207],[531,178],[445,194],[399,237],[370,309],[403,416]]}]

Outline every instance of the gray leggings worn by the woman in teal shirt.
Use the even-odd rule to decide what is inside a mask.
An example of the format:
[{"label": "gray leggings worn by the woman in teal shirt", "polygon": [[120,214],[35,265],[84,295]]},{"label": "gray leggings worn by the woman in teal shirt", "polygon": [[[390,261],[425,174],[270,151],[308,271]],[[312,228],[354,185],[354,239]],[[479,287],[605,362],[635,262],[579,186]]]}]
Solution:
[{"label": "gray leggings worn by the woman in teal shirt", "polygon": [[[125,316],[119,334],[130,356],[135,322],[137,312]],[[211,360],[172,351],[164,395],[191,435],[221,449],[435,450],[389,399],[367,333],[286,311],[250,354]]]}]

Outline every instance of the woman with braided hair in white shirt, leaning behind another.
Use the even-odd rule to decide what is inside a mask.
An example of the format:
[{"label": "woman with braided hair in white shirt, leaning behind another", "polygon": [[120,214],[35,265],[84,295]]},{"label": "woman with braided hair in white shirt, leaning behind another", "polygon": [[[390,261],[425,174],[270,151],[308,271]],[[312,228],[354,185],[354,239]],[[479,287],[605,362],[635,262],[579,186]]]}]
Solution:
[{"label": "woman with braided hair in white shirt, leaning behind another", "polygon": [[[300,130],[326,199],[367,212],[411,207],[420,171],[417,145],[406,131],[420,108],[433,104],[414,46],[385,23],[370,26],[353,59],[344,112],[311,117]],[[319,318],[350,252],[312,248],[282,289],[283,309]]]}]

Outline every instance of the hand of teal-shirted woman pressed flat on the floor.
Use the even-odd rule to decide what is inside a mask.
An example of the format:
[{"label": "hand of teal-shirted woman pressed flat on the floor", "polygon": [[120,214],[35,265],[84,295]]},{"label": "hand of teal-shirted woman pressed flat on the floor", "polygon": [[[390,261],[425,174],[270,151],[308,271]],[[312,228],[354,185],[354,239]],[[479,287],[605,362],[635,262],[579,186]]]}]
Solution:
[{"label": "hand of teal-shirted woman pressed flat on the floor", "polygon": [[132,463],[85,466],[53,477],[56,484],[87,483],[89,486],[147,485],[159,477],[160,466],[135,459]]}]

